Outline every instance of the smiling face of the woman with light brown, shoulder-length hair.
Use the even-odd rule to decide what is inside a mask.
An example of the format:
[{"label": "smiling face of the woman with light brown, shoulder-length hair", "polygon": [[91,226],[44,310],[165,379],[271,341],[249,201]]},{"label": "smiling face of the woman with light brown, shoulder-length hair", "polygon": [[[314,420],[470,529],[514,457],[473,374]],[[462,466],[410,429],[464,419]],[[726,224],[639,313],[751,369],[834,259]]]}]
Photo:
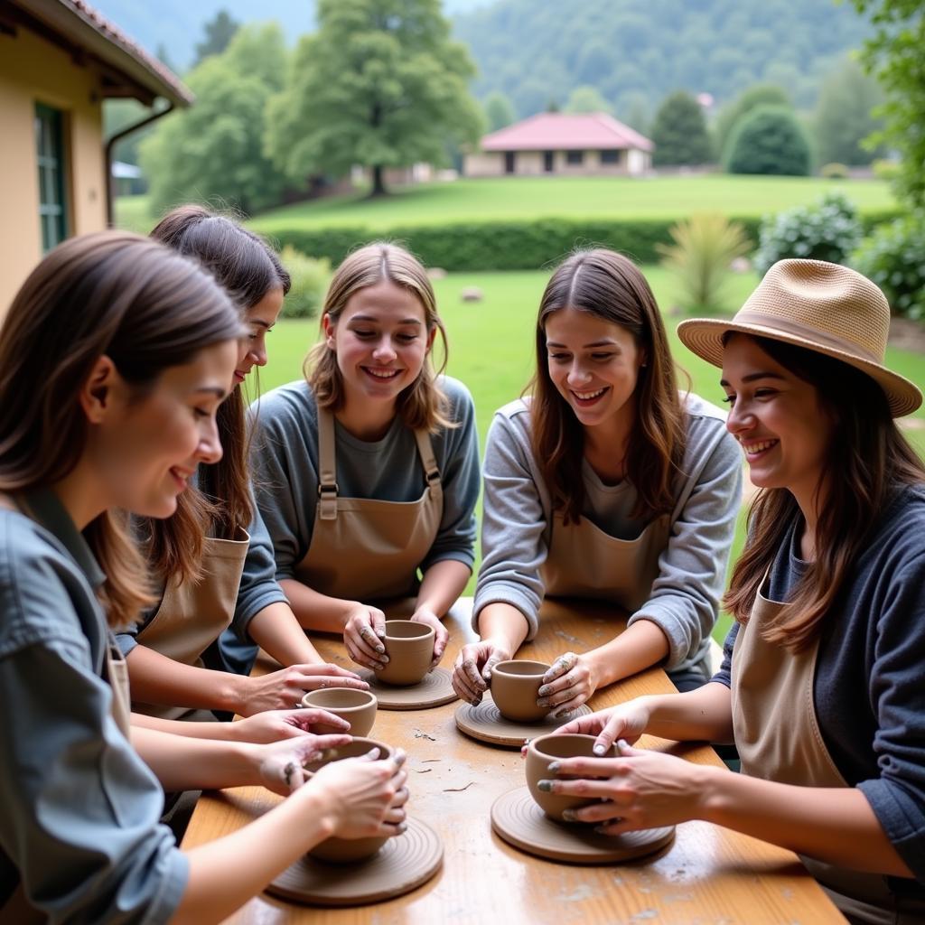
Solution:
[{"label": "smiling face of the woman with light brown, shoulder-length hair", "polygon": [[348,401],[394,403],[413,384],[436,332],[425,321],[420,300],[388,279],[354,292],[337,322],[324,316]]}]

